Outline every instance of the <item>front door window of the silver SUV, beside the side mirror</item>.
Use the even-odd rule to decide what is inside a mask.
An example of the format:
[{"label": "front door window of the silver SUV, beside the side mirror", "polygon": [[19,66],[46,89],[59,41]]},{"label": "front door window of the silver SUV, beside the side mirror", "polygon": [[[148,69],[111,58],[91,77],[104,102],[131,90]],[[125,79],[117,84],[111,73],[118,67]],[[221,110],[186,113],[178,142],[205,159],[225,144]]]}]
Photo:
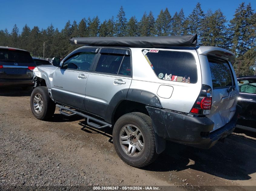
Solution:
[{"label": "front door window of the silver SUV, beside the side mirror", "polygon": [[86,50],[88,52],[78,52],[71,55],[64,61],[62,68],[89,71],[96,55],[95,50],[90,48]]}]

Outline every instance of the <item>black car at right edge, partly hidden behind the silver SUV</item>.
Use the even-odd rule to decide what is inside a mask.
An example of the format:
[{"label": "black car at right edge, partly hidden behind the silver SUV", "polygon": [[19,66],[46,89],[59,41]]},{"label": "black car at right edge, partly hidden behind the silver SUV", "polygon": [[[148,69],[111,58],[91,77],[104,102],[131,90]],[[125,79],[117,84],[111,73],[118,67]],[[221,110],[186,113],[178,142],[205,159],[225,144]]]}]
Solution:
[{"label": "black car at right edge, partly hidden behind the silver SUV", "polygon": [[239,86],[238,105],[242,107],[237,128],[256,132],[256,76],[237,78]]}]

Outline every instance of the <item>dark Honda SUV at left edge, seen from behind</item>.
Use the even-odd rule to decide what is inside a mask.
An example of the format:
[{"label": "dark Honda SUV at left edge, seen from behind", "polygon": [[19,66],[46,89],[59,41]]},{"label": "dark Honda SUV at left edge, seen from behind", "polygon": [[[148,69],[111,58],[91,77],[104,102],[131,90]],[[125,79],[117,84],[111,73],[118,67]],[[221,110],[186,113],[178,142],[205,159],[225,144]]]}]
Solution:
[{"label": "dark Honda SUV at left edge, seen from behind", "polygon": [[35,66],[28,51],[0,46],[0,86],[32,86]]}]

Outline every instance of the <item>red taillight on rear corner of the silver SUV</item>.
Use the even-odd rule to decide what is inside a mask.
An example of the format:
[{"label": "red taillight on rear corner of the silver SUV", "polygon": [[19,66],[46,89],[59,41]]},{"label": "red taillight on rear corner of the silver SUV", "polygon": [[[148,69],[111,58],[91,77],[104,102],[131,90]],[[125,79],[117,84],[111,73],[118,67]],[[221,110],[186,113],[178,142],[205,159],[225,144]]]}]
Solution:
[{"label": "red taillight on rear corner of the silver SUV", "polygon": [[212,103],[212,91],[208,85],[202,86],[201,93],[198,96],[196,102],[190,113],[198,115],[209,115]]}]

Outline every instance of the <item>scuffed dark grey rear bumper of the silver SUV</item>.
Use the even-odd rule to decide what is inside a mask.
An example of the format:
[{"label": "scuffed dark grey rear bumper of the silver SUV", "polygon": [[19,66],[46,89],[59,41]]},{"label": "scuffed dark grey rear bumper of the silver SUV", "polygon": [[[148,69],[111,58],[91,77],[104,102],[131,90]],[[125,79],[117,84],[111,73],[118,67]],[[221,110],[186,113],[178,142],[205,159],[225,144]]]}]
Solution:
[{"label": "scuffed dark grey rear bumper of the silver SUV", "polygon": [[[159,137],[198,148],[211,148],[216,142],[230,135],[236,126],[241,107],[229,123],[212,131],[214,122],[207,117],[191,117],[171,110],[146,107]],[[212,131],[212,132],[211,132]]]}]

